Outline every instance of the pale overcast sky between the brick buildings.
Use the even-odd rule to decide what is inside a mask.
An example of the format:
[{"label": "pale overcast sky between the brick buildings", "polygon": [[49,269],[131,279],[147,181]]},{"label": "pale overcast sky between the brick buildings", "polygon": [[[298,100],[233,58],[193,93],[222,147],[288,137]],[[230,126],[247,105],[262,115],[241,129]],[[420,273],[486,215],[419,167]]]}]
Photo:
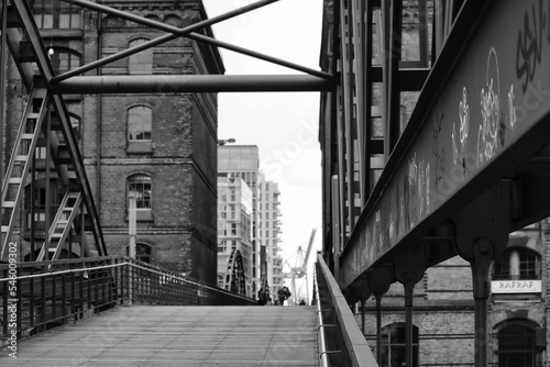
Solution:
[{"label": "pale overcast sky between the brick buildings", "polygon": [[[202,1],[209,18],[255,2]],[[212,29],[220,41],[318,70],[321,16],[322,0],[280,0]],[[299,74],[227,49],[221,54],[227,75]],[[318,92],[219,94],[219,138],[257,145],[261,170],[266,179],[279,184],[283,259],[290,263],[298,246],[306,251],[314,227],[317,235],[310,259],[321,248],[318,124]]]}]

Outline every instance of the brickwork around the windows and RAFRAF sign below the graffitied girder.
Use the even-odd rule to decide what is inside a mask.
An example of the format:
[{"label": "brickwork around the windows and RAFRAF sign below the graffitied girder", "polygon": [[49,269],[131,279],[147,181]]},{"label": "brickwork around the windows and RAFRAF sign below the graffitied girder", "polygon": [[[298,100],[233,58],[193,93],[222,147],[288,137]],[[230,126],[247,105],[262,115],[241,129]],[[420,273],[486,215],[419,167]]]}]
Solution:
[{"label": "brickwork around the windows and RAFRAF sign below the graffitied girder", "polygon": [[[498,366],[498,333],[510,322],[543,330],[546,341],[532,341],[536,358],[546,366],[548,362],[548,294],[549,221],[531,225],[510,234],[512,237],[529,238],[520,247],[539,256],[542,283],[540,293],[492,293],[488,299],[487,356],[491,366]],[[517,243],[510,241],[512,248]],[[516,247],[517,248],[517,247]],[[494,265],[491,276],[494,276]],[[362,325],[361,310],[356,321]],[[382,327],[405,323],[405,291],[394,282],[382,298]],[[474,300],[472,273],[468,262],[455,256],[426,270],[415,287],[413,324],[418,327],[418,366],[474,366]],[[374,297],[365,303],[365,338],[376,354],[376,308]]]}]

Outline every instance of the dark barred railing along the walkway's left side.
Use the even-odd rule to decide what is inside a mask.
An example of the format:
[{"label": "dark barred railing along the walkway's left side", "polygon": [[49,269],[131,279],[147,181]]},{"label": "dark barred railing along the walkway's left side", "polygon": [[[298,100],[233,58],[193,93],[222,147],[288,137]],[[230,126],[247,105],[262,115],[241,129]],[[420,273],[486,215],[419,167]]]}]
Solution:
[{"label": "dark barred railing along the walkway's left side", "polygon": [[0,346],[118,304],[257,304],[123,256],[0,264]]}]

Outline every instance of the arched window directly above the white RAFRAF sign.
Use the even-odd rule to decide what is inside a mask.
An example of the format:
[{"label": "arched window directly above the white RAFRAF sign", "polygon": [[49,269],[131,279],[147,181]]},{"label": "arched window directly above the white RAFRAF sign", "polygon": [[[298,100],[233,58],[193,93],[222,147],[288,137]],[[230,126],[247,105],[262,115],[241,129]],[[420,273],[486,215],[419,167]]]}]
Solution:
[{"label": "arched window directly above the white RAFRAF sign", "polygon": [[540,279],[540,255],[526,247],[507,248],[493,264],[493,280]]}]

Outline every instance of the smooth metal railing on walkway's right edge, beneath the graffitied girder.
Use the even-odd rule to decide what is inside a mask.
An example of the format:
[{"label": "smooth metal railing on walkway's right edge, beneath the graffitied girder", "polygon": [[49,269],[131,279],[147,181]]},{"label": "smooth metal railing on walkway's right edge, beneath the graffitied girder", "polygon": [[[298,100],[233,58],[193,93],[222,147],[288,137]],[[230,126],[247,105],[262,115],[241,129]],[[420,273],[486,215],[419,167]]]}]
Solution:
[{"label": "smooth metal railing on walkway's right edge, beneath the graffitied girder", "polygon": [[320,302],[317,312],[321,314],[321,366],[377,367],[355,316],[321,255],[317,256],[315,273],[318,291],[314,302]]}]

